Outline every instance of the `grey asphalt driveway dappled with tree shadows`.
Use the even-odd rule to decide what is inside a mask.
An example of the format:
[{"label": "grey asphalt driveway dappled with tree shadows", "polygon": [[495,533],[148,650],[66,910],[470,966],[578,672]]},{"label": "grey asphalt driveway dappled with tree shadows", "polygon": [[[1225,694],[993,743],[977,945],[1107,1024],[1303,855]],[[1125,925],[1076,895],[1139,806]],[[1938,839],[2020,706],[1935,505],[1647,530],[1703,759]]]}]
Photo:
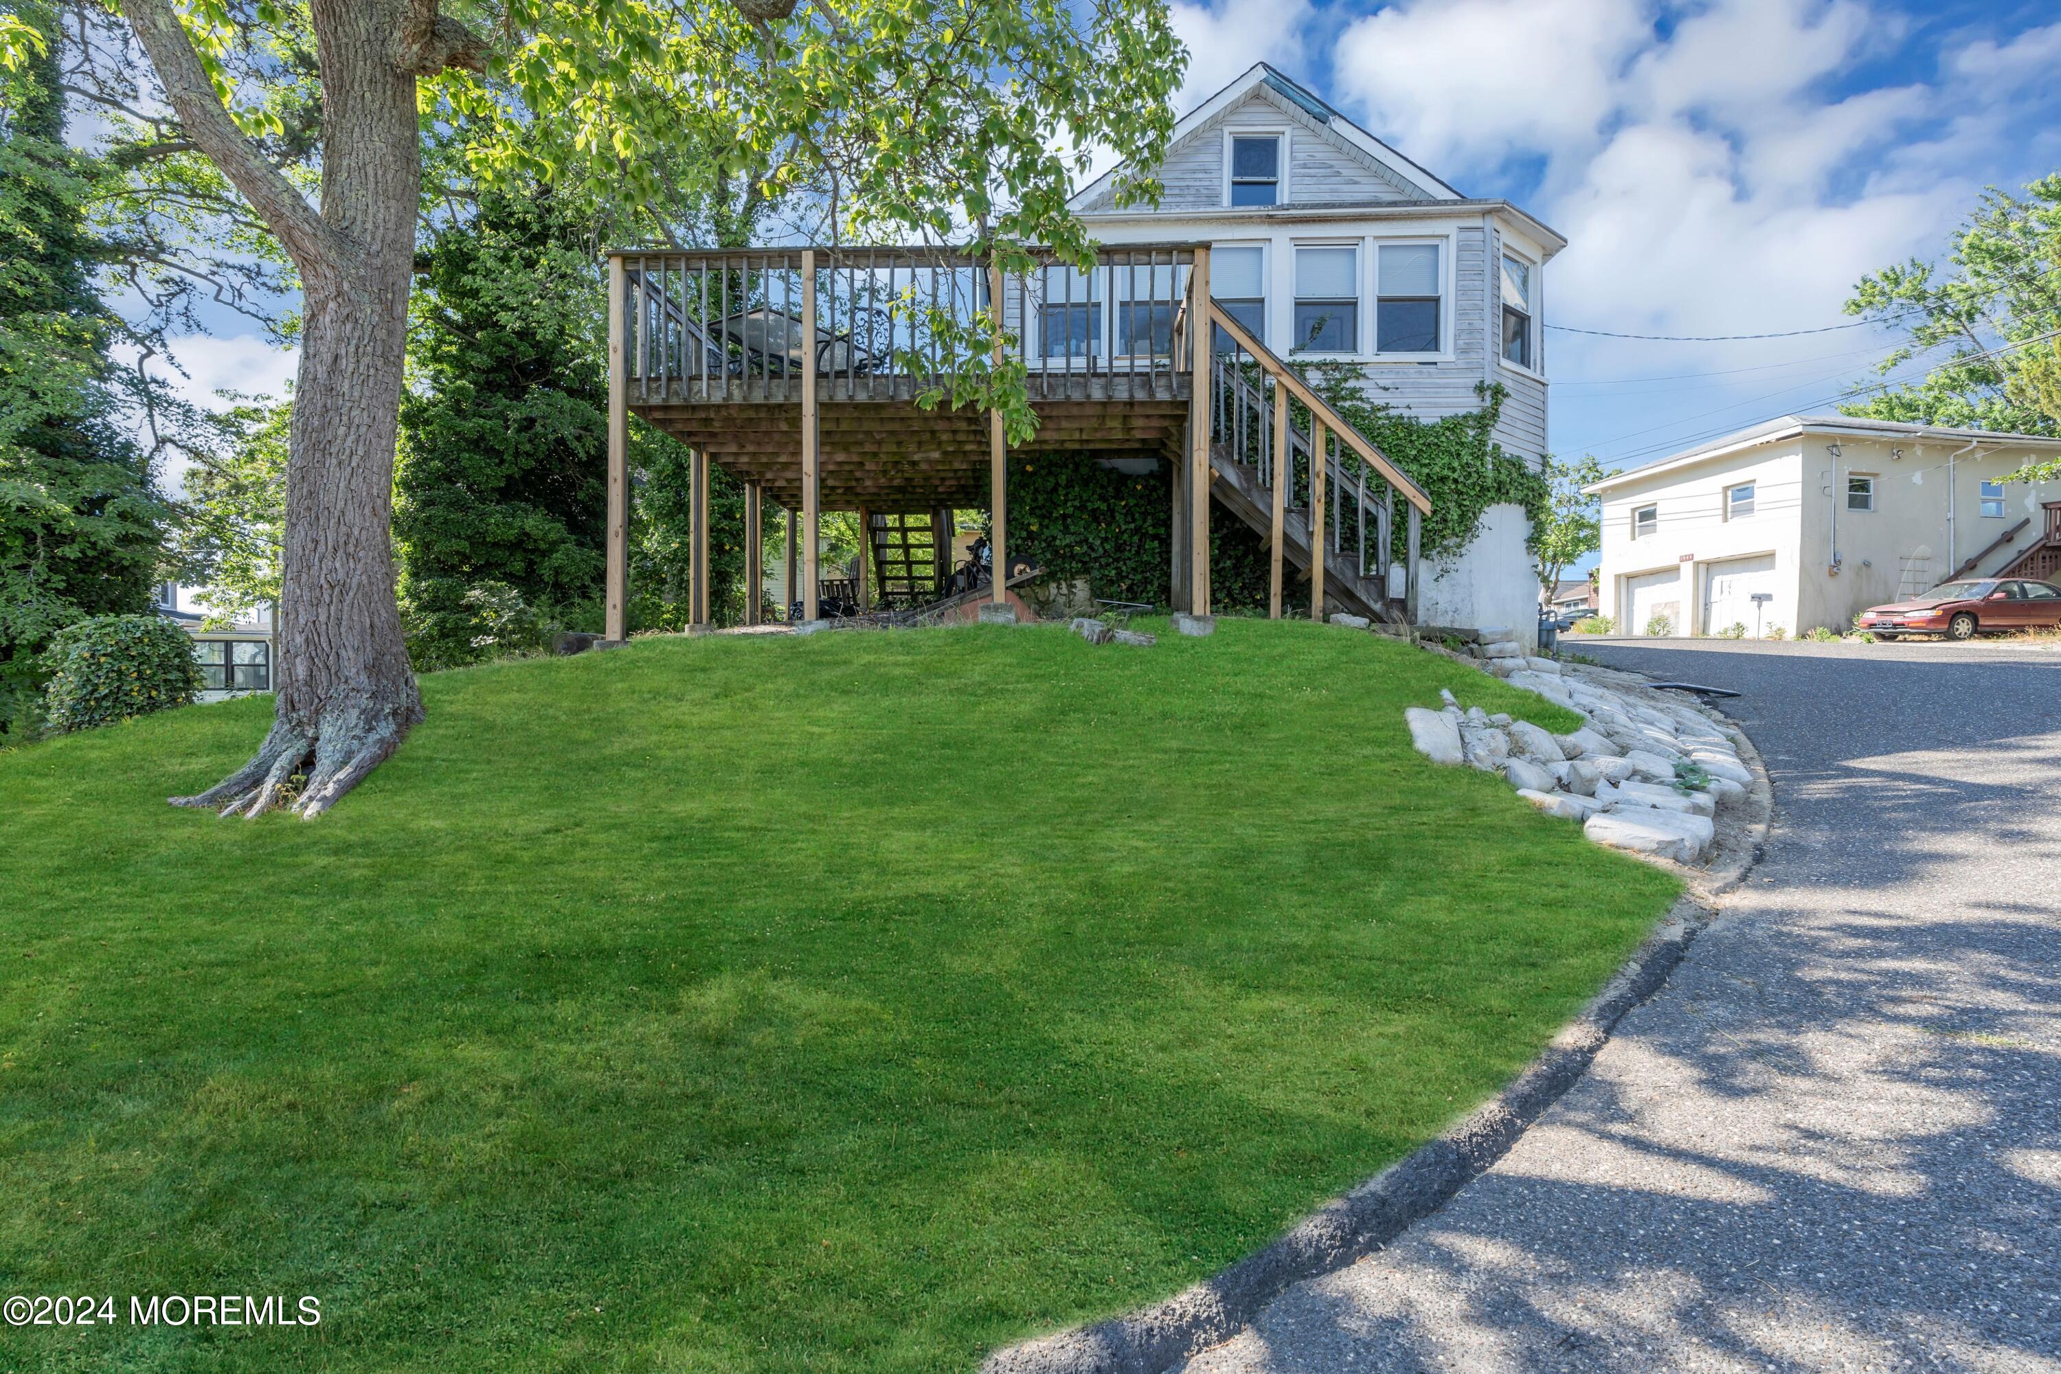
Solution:
[{"label": "grey asphalt driveway dappled with tree shadows", "polygon": [[1762,865],[1502,1162],[1187,1370],[2061,1372],[2061,653],[1575,647],[1742,692]]}]

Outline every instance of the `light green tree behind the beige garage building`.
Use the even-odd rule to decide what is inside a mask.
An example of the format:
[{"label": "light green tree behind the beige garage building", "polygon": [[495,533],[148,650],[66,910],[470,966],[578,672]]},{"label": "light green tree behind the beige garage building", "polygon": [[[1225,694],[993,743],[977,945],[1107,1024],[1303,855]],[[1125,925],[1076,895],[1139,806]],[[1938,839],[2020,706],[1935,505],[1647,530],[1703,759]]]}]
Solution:
[{"label": "light green tree behind the beige garage building", "polygon": [[1847,313],[1904,334],[1882,375],[1946,350],[1925,377],[1843,406],[1847,414],[2061,435],[2061,173],[2024,196],[1985,192],[1946,270],[1913,257],[1863,276]]}]

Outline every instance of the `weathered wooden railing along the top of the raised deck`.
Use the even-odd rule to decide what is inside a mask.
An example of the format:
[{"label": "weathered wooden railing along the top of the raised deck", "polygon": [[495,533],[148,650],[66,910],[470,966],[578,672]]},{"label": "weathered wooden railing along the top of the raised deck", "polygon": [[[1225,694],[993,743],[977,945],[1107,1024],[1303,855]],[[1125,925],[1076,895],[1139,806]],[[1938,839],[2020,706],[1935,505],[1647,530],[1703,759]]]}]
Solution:
[{"label": "weathered wooden railing along the top of the raised deck", "polygon": [[1006,352],[1037,400],[1177,400],[1193,245],[1103,247],[1080,272],[1041,257],[998,276],[923,247],[622,251],[633,404],[911,400],[948,387],[1000,280]]}]

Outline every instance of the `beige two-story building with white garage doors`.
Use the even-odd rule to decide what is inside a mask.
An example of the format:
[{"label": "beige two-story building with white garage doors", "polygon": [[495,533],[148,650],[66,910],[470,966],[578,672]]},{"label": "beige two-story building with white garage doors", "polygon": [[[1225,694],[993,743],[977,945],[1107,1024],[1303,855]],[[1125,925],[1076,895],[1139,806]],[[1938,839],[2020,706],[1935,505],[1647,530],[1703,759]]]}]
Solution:
[{"label": "beige two-story building with white garage doors", "polygon": [[[2001,478],[2061,439],[1781,416],[1587,488],[1624,634],[1845,630],[1954,577],[2045,577],[2061,482]],[[2018,566],[2038,564],[2038,566]]]}]

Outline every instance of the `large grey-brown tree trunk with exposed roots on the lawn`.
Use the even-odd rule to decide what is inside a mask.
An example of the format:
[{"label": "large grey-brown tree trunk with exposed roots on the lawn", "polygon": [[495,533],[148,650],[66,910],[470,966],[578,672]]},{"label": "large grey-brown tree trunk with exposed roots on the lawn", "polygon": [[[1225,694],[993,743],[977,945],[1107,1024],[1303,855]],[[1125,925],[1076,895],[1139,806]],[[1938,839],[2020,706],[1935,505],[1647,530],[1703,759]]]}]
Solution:
[{"label": "large grey-brown tree trunk with exposed roots on the lawn", "polygon": [[[126,0],[124,8],[181,122],[190,132],[210,126],[221,111],[212,93],[200,105],[165,70],[190,49],[179,51],[183,35],[179,47],[169,43],[163,0]],[[225,171],[266,212],[303,278],[278,715],[243,768],[196,797],[173,797],[175,805],[221,808],[225,816],[272,805],[319,816],[423,719],[390,542],[423,183],[414,87],[418,70],[453,60],[464,35],[420,0],[315,0],[311,19],[324,107],[319,222],[307,222],[297,196],[278,200],[262,171],[241,167],[237,175],[237,148],[208,148],[218,165],[229,157]]]}]

